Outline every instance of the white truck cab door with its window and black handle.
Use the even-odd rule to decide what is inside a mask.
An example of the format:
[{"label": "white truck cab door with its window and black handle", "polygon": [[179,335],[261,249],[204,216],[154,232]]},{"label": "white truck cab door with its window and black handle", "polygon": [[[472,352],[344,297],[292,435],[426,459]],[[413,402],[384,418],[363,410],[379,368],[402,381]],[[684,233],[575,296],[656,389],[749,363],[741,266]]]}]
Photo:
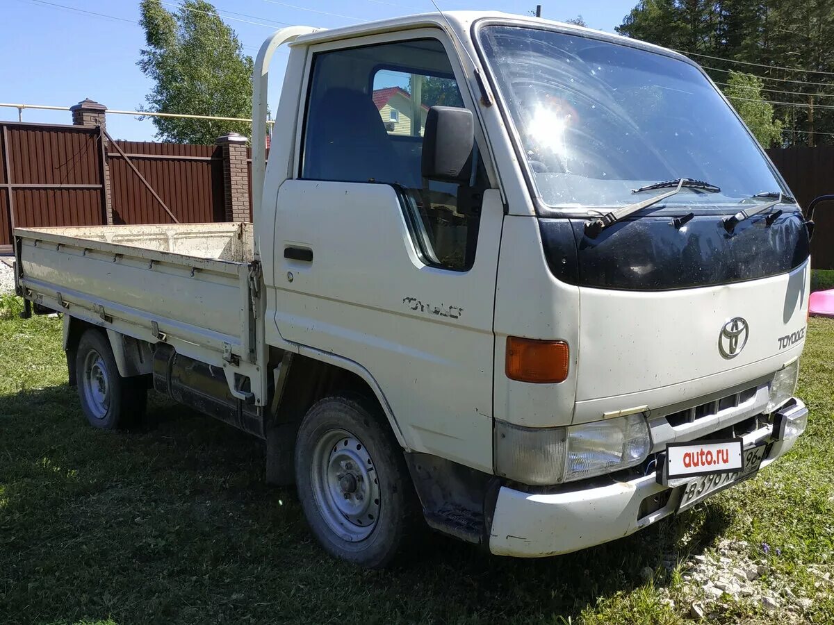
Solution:
[{"label": "white truck cab door with its window and black handle", "polygon": [[484,149],[469,184],[420,173],[428,108],[475,111],[448,49],[436,29],[311,49],[277,203],[275,323],[366,369],[410,449],[491,473],[500,193]]}]

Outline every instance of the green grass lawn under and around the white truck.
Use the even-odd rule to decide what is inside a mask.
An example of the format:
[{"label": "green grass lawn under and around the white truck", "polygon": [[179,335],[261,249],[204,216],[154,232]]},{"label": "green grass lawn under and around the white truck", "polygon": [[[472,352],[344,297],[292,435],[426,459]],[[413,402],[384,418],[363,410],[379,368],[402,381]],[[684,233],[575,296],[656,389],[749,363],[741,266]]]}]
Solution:
[{"label": "green grass lawn under and around the white truck", "polygon": [[[0,303],[2,623],[676,623],[685,560],[723,537],[771,546],[774,575],[811,589],[834,572],[834,321],[811,319],[794,451],[705,506],[565,557],[511,560],[429,534],[389,571],[337,562],[309,534],[291,489],[264,485],[260,443],[153,398],[153,427],[86,425],[61,350],[61,322]],[[776,557],[775,549],[781,549]],[[656,569],[652,582],[644,567]],[[810,592],[810,591],[809,591]],[[661,600],[666,593],[676,607]],[[719,622],[771,622],[727,603]],[[830,595],[801,615],[834,622]]]}]

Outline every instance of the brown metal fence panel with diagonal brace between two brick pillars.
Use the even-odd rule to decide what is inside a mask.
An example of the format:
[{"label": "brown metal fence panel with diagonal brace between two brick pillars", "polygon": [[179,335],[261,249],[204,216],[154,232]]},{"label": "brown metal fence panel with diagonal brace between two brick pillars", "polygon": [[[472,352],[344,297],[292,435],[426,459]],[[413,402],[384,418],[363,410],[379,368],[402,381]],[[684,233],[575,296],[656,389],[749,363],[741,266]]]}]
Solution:
[{"label": "brown metal fence panel with diagonal brace between two brick pillars", "polygon": [[[163,204],[180,223],[224,221],[221,148],[178,143],[115,143],[121,152],[112,145],[108,151],[113,223],[173,223]],[[147,184],[130,167],[131,163]]]}]

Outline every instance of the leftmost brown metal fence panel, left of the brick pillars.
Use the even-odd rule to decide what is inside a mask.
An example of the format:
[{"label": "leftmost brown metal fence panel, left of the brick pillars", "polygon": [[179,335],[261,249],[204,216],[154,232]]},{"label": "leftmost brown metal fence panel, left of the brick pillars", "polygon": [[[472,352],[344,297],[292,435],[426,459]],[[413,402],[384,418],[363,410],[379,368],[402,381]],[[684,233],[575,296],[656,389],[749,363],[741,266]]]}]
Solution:
[{"label": "leftmost brown metal fence panel, left of the brick pillars", "polygon": [[0,122],[0,252],[13,228],[105,223],[98,129]]}]

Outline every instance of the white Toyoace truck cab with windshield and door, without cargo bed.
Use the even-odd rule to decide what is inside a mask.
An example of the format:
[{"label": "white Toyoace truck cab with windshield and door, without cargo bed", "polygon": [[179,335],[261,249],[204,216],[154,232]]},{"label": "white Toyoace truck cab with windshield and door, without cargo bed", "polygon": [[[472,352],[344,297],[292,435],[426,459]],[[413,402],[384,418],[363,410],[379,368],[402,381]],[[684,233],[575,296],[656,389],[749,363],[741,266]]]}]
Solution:
[{"label": "white Toyoace truck cab with windshield and door, without cargo bed", "polygon": [[[284,90],[300,92],[275,133],[295,136],[270,155],[259,215],[275,233],[270,332],[364,363],[423,464],[498,479],[478,537],[491,552],[574,551],[675,512],[692,482],[662,477],[670,444],[767,441],[757,466],[790,448],[773,422],[804,415],[808,233],[694,62],[484,13],[291,49]],[[408,124],[387,123],[390,88]],[[443,125],[445,107],[471,113],[470,134],[452,136],[465,116]],[[421,168],[465,141],[462,175]],[[585,233],[678,178],[711,186]],[[430,522],[470,519],[455,504],[446,493]]]}]

